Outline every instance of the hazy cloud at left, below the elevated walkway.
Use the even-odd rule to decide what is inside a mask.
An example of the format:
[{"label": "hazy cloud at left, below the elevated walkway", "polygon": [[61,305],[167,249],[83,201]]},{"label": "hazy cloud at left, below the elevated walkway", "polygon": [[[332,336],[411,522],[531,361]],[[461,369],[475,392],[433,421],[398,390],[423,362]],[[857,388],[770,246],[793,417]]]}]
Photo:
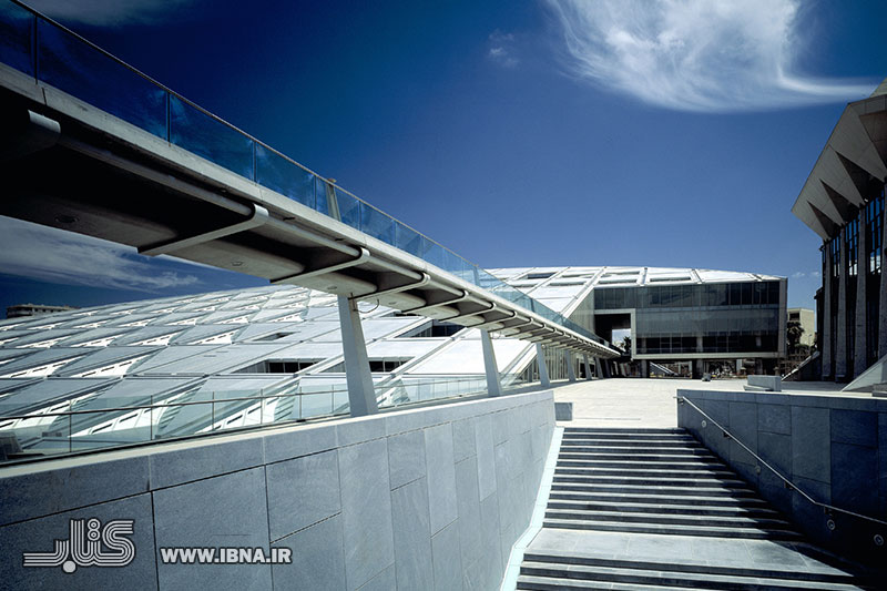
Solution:
[{"label": "hazy cloud at left, below the elevated walkway", "polygon": [[0,273],[65,285],[159,292],[200,284],[134,248],[0,216]]}]

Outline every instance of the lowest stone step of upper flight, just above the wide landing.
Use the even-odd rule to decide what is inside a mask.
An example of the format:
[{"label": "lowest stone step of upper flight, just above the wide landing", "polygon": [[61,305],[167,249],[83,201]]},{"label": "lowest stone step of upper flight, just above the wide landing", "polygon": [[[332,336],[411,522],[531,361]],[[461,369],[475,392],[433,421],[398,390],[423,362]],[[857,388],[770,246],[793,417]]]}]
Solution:
[{"label": "lowest stone step of upper flight, just above the wide landing", "polygon": [[778,513],[767,517],[747,516],[699,516],[667,514],[629,511],[598,511],[591,509],[546,509],[546,519],[588,520],[609,523],[644,523],[661,526],[692,526],[706,528],[753,528],[766,530],[791,530],[792,523],[779,518]]}]

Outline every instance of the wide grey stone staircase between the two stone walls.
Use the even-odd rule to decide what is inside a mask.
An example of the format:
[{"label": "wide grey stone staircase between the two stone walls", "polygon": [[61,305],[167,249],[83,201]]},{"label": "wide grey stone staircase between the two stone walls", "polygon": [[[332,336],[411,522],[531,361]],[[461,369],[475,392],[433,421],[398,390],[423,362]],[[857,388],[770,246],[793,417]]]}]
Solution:
[{"label": "wide grey stone staircase between the two stone walls", "polygon": [[690,434],[568,428],[518,589],[877,589]]}]

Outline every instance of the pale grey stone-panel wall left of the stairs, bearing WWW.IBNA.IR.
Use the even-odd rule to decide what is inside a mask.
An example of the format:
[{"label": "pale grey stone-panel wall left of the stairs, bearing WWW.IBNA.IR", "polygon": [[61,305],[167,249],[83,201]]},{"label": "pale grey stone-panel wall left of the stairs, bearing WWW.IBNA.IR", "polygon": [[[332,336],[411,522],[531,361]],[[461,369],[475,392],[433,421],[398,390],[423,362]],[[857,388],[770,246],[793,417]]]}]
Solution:
[{"label": "pale grey stone-panel wall left of the stairs, bearing WWW.IBNA.IR", "polygon": [[[496,589],[529,523],[552,393],[0,469],[0,587]],[[134,520],[125,567],[22,565],[71,519]],[[160,548],[292,550],[292,564],[173,564]]]}]

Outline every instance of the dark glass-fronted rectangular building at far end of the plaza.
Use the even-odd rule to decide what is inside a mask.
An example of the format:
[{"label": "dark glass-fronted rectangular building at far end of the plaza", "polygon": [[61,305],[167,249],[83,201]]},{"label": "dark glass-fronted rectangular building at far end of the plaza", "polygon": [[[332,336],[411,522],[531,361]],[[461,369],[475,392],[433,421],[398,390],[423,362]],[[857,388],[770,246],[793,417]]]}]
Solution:
[{"label": "dark glass-fronted rectangular building at far end of the plaza", "polygon": [[651,363],[690,363],[772,373],[785,356],[786,279],[693,268],[603,267],[577,322],[604,338],[631,330],[631,357],[641,375]]}]

